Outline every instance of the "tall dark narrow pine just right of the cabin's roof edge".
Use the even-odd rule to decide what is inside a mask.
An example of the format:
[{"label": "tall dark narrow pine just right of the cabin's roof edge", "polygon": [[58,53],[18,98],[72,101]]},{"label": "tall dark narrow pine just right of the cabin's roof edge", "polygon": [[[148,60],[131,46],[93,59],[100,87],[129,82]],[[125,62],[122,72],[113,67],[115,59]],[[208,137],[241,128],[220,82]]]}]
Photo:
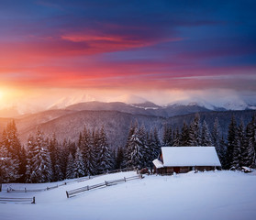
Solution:
[{"label": "tall dark narrow pine just right of the cabin's roof edge", "polygon": [[238,127],[234,115],[228,126],[228,151],[227,151],[227,166],[229,168],[239,169],[240,163],[240,148],[238,143]]}]

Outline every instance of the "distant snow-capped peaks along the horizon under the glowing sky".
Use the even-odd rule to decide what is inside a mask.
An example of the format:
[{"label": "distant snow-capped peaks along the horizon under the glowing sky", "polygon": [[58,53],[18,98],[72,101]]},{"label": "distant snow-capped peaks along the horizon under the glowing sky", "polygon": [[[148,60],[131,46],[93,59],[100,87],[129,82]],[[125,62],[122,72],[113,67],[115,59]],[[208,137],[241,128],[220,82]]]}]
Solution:
[{"label": "distant snow-capped peaks along the horizon under the glowing sky", "polygon": [[201,111],[229,111],[229,110],[256,110],[255,103],[245,101],[238,96],[219,97],[213,102],[201,98],[176,101],[170,104],[154,104],[137,95],[122,95],[104,102],[97,102],[97,98],[89,94],[64,96],[59,100],[42,105],[33,102],[9,104],[0,108],[0,117],[17,117],[39,113],[54,109],[79,109],[79,110],[121,110],[127,113],[139,113],[143,115],[173,116],[185,115]]}]

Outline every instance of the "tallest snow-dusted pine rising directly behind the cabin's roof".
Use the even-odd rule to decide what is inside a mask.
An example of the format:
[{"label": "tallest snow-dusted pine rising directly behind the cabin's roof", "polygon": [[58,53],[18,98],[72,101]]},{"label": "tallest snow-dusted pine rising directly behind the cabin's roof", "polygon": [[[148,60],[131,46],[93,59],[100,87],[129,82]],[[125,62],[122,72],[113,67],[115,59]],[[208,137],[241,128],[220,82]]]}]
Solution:
[{"label": "tallest snow-dusted pine rising directly behind the cabin's roof", "polygon": [[189,127],[190,146],[200,146],[200,143],[202,142],[200,134],[200,116],[199,114],[196,114],[194,121]]}]

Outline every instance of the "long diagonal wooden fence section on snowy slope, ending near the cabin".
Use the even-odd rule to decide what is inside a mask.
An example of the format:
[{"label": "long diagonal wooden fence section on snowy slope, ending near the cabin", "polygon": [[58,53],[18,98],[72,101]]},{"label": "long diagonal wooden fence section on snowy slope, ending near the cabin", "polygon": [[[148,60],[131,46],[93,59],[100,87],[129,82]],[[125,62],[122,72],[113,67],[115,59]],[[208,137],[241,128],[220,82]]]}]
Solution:
[{"label": "long diagonal wooden fence section on snowy slope, ending near the cabin", "polygon": [[118,180],[113,180],[113,181],[105,181],[102,183],[98,183],[95,185],[87,185],[81,188],[77,188],[71,191],[66,191],[67,194],[67,198],[70,198],[72,196],[75,196],[78,193],[81,192],[85,192],[85,191],[89,191],[89,190],[93,190],[93,189],[98,189],[98,188],[102,188],[102,187],[106,187],[106,186],[111,186],[111,185],[115,185],[118,184],[120,182],[125,182],[125,181],[132,181],[132,180],[136,180],[136,179],[142,179],[143,176],[141,174],[139,174],[138,176],[132,176],[132,177],[124,177],[123,179],[118,179]]}]

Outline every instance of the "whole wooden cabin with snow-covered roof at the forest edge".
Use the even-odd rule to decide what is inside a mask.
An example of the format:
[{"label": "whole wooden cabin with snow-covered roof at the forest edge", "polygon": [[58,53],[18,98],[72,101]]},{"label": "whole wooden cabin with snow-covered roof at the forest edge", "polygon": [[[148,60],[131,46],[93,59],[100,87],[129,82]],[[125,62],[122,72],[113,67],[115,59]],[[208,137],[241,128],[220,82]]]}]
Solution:
[{"label": "whole wooden cabin with snow-covered roof at the forest edge", "polygon": [[173,174],[191,170],[215,170],[221,164],[215,147],[162,147],[153,164],[157,173]]}]

